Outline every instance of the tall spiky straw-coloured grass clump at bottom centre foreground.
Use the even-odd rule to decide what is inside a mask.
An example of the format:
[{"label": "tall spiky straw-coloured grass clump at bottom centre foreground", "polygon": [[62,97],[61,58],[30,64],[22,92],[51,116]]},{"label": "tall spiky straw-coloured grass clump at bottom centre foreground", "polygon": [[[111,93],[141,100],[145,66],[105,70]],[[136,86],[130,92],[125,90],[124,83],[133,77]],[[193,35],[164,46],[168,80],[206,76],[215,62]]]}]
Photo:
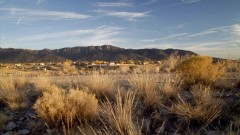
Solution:
[{"label": "tall spiky straw-coloured grass clump at bottom centre foreground", "polygon": [[102,103],[100,116],[105,125],[104,132],[108,134],[137,135],[137,130],[133,123],[133,112],[136,106],[135,93],[127,93],[122,96],[118,91],[116,102],[109,100]]}]

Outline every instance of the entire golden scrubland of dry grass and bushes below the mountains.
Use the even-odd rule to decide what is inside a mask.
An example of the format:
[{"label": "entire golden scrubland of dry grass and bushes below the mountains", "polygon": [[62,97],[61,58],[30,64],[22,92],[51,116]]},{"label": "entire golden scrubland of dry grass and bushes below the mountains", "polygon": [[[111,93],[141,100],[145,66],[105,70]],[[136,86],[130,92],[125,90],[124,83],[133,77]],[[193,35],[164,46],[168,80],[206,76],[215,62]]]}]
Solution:
[{"label": "entire golden scrubland of dry grass and bushes below the mountains", "polygon": [[194,56],[85,75],[69,63],[60,76],[0,70],[0,134],[240,134],[239,63]]}]

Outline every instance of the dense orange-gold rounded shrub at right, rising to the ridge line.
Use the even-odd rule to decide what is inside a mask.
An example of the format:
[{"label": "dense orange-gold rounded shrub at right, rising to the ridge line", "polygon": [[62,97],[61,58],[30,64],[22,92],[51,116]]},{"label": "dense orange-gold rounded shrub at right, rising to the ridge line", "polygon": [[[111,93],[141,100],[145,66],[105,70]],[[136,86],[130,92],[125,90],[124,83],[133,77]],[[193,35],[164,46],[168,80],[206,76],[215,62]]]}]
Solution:
[{"label": "dense orange-gold rounded shrub at right, rising to the ridge line", "polygon": [[186,84],[213,84],[225,73],[223,64],[213,63],[211,57],[194,56],[183,61],[178,70]]}]

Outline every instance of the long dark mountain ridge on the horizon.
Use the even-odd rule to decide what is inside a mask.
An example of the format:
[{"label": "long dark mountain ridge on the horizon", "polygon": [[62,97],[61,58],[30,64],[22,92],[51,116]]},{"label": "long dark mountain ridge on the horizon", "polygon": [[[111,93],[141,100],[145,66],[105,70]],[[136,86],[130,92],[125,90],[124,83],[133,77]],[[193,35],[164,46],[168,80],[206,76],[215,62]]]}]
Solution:
[{"label": "long dark mountain ridge on the horizon", "polygon": [[0,62],[30,63],[30,62],[61,62],[67,59],[77,60],[162,60],[172,54],[179,56],[197,55],[191,51],[178,49],[124,49],[112,45],[72,47],[61,49],[14,49],[0,48]]}]

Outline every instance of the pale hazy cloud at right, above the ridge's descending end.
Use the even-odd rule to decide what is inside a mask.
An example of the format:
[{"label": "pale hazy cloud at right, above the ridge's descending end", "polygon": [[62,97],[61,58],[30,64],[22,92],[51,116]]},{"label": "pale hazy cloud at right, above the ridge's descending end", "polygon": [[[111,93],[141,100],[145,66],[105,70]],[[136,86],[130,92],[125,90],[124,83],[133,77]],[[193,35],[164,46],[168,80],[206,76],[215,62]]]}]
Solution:
[{"label": "pale hazy cloud at right, above the ridge's descending end", "polygon": [[[203,36],[211,37],[211,34],[224,38],[202,38]],[[151,48],[178,48],[203,55],[211,54],[215,57],[229,58],[231,55],[232,59],[240,58],[240,24],[209,28],[194,34],[170,34],[166,37],[141,40],[141,44]]]}]

